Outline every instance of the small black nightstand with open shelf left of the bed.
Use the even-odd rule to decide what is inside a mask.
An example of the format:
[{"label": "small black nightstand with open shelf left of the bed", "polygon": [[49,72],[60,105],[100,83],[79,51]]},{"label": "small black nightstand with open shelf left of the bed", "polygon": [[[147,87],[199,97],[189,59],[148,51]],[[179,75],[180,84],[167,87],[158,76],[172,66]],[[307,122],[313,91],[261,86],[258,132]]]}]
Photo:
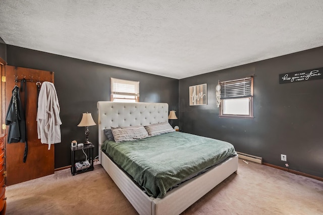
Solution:
[{"label": "small black nightstand with open shelf left of the bed", "polygon": [[[88,164],[84,160],[76,160],[75,154],[77,151],[83,151],[86,154],[89,162]],[[92,144],[84,145],[83,147],[71,147],[72,175],[94,170],[93,151],[94,151],[94,145]]]}]

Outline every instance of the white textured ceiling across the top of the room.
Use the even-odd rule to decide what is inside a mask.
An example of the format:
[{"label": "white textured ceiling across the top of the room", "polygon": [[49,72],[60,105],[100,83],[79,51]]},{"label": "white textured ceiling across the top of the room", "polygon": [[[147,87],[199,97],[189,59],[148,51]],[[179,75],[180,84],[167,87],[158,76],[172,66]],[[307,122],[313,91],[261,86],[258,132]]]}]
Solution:
[{"label": "white textured ceiling across the top of the room", "polygon": [[0,37],[182,79],[323,46],[323,1],[1,0]]}]

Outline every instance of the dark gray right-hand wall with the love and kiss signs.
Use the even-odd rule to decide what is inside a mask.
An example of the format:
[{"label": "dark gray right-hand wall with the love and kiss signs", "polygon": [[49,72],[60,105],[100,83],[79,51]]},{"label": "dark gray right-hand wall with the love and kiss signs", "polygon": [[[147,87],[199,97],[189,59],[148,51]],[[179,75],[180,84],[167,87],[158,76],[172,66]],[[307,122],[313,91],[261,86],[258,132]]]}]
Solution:
[{"label": "dark gray right-hand wall with the love and kiss signs", "polygon": [[[323,177],[323,80],[279,84],[279,74],[323,67],[323,47],[181,79],[180,129],[231,142],[263,162]],[[219,118],[218,80],[254,75],[254,118]],[[189,86],[207,84],[207,105],[189,106]]]}]

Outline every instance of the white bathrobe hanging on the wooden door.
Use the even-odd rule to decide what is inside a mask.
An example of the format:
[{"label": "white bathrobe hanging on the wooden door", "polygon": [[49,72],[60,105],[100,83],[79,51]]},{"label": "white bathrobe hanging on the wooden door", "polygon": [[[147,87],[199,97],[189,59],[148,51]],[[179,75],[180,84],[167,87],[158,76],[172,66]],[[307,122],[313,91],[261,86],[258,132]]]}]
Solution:
[{"label": "white bathrobe hanging on the wooden door", "polygon": [[43,82],[38,97],[37,131],[42,144],[61,142],[60,104],[55,86],[50,82]]}]

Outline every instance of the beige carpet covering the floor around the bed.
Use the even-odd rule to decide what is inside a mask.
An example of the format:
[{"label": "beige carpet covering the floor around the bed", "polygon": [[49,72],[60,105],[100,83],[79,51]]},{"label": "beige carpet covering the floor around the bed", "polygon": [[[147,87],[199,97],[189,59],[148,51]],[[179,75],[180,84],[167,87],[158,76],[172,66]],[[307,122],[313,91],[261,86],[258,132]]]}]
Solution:
[{"label": "beige carpet covering the floor around the bed", "polygon": [[[100,165],[7,187],[7,214],[137,214]],[[183,214],[323,214],[323,182],[239,159],[238,174]]]}]

